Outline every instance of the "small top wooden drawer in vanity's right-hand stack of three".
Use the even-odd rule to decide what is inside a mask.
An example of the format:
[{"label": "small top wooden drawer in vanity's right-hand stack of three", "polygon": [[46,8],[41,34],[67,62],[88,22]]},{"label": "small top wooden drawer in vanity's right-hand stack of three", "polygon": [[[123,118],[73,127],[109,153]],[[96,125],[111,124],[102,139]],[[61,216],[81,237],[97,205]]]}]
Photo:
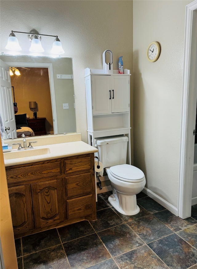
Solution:
[{"label": "small top wooden drawer in vanity's right-hand stack of three", "polygon": [[73,173],[78,171],[91,169],[91,158],[70,158],[65,160],[65,173]]}]

